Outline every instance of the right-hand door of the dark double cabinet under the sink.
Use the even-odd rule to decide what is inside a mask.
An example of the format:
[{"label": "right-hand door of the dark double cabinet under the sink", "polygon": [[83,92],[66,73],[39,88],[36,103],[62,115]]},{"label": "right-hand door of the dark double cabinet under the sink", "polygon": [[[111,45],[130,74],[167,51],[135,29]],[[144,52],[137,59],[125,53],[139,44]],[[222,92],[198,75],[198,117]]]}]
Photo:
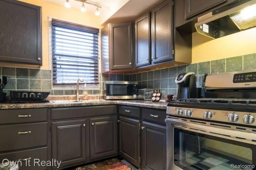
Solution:
[{"label": "right-hand door of the dark double cabinet under the sink", "polygon": [[117,116],[90,119],[90,160],[117,153]]}]

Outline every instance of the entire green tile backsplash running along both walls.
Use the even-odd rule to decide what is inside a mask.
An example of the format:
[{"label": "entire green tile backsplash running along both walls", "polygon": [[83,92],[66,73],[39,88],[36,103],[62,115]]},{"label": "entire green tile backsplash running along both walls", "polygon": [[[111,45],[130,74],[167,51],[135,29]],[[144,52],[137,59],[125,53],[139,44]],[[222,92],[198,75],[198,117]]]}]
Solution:
[{"label": "entire green tile backsplash running along both walls", "polygon": [[[146,71],[131,75],[99,74],[99,89],[86,90],[89,95],[104,94],[105,81],[138,81],[138,88],[162,89],[164,93],[177,94],[178,86],[175,78],[180,73],[223,73],[229,71],[256,69],[256,53],[193,63],[176,67]],[[52,95],[74,95],[76,90],[52,90],[52,71],[44,69],[27,69],[15,67],[0,67],[0,75],[11,77],[4,91],[49,91]],[[82,93],[80,89],[80,94]],[[7,94],[9,95],[9,93]]]}]

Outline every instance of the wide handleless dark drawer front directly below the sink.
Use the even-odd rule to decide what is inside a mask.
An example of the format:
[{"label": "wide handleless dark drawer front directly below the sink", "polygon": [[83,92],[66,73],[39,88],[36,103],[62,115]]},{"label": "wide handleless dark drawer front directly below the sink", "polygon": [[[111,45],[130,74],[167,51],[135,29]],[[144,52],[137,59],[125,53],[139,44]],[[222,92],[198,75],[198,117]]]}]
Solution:
[{"label": "wide handleless dark drawer front directly below the sink", "polygon": [[117,114],[116,105],[88,106],[88,107],[66,107],[51,109],[51,118],[71,119],[78,117],[114,115]]}]

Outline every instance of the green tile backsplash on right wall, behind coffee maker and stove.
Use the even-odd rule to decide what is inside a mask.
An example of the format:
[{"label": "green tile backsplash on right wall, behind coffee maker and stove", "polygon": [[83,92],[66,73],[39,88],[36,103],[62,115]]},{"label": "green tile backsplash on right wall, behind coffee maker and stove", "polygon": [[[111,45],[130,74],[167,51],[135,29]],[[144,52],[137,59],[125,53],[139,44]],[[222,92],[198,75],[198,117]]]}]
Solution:
[{"label": "green tile backsplash on right wall, behind coffee maker and stove", "polygon": [[[202,63],[180,65],[176,67],[169,67],[168,69],[163,68],[163,69],[143,72],[140,74],[146,75],[146,73],[148,73],[148,80],[147,80],[148,83],[146,83],[144,79],[143,79],[143,83],[141,83],[140,79],[137,79],[138,88],[152,88],[152,89],[161,88],[166,91],[165,93],[177,94],[178,85],[174,81],[176,76],[180,73],[186,73],[186,72],[194,72],[198,74],[224,73],[229,71],[256,69],[255,63],[256,63],[256,53],[237,56],[237,57],[231,57],[226,59],[206,61]],[[153,77],[153,73],[154,73],[154,77]],[[133,74],[131,76],[133,81],[135,81],[135,78],[134,78],[135,75],[138,75],[138,74]]]}]

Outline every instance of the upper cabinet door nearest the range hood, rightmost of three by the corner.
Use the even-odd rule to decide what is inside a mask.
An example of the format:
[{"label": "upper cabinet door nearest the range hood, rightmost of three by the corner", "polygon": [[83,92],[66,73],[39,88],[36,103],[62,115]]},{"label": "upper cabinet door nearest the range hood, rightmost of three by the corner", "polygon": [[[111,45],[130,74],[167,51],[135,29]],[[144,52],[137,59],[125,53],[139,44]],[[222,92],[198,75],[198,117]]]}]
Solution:
[{"label": "upper cabinet door nearest the range hood, rightmost of three by the corner", "polygon": [[172,0],[152,10],[152,61],[172,59]]}]

